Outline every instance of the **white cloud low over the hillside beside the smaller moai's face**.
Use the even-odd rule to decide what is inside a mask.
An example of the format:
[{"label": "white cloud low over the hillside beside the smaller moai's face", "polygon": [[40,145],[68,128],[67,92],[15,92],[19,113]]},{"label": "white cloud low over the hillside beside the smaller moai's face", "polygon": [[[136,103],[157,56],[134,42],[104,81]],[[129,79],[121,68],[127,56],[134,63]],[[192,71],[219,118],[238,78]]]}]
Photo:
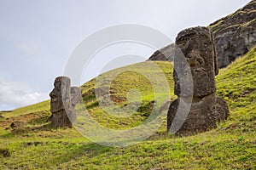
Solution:
[{"label": "white cloud low over the hillside beside the smaller moai's face", "polygon": [[49,94],[33,91],[23,82],[9,82],[0,79],[0,111],[32,105],[49,99],[48,96]]}]

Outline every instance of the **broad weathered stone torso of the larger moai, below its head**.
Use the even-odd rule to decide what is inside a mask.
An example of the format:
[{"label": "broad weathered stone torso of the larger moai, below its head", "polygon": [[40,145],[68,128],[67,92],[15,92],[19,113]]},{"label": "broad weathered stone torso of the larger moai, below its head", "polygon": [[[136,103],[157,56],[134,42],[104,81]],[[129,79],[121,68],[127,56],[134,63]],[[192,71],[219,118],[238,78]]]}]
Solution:
[{"label": "broad weathered stone torso of the larger moai, below its head", "polygon": [[[174,100],[170,105],[167,114],[167,129],[172,126],[172,121],[177,113],[177,107],[182,97]],[[183,122],[182,127],[177,130],[177,134],[190,135],[205,132],[215,128],[217,122],[228,117],[229,108],[224,99],[218,98],[215,94],[204,98],[194,97],[189,115]],[[189,105],[189,104],[188,104]],[[182,120],[176,120],[177,122]]]}]

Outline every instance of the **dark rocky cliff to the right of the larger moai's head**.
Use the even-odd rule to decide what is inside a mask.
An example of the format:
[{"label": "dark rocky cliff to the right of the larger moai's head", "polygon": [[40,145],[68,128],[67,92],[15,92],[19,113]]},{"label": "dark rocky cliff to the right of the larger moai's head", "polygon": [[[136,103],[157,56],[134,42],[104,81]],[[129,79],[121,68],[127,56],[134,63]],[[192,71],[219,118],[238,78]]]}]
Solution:
[{"label": "dark rocky cliff to the right of the larger moai's head", "polygon": [[215,37],[218,65],[225,67],[256,44],[256,0],[209,27]]}]

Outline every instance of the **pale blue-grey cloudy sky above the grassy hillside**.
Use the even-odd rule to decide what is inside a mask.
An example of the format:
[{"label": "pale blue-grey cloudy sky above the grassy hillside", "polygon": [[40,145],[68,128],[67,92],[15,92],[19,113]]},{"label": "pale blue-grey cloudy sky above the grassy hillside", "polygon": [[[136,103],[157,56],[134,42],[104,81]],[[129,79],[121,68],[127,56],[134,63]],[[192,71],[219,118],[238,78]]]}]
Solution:
[{"label": "pale blue-grey cloudy sky above the grassy hillside", "polygon": [[[97,30],[125,23],[138,24],[157,29],[174,40],[178,31],[190,26],[208,26],[212,21],[236,11],[248,2],[249,0],[1,0],[0,111],[49,99],[53,81],[63,74],[73,49]],[[134,54],[134,49],[126,48],[126,51],[131,50]],[[148,59],[153,51],[138,48],[137,53]],[[119,55],[121,53],[119,50]],[[98,59],[103,55],[112,54],[107,50]],[[98,65],[97,61],[91,63],[90,73],[84,73],[84,82],[96,77],[103,66]]]}]

